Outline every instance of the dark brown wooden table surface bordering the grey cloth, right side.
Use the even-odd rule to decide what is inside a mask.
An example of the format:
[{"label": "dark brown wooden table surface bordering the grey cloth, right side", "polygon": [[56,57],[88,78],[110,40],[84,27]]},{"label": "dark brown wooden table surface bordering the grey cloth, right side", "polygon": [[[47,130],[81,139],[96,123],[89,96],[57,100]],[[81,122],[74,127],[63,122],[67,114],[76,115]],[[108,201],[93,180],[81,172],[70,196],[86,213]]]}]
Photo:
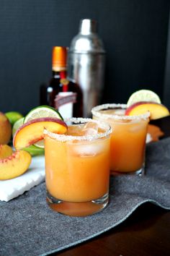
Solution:
[{"label": "dark brown wooden table surface bordering the grey cloth, right side", "polygon": [[[152,123],[161,127],[165,137],[170,136],[170,118]],[[170,211],[146,203],[114,229],[54,255],[169,256]]]}]

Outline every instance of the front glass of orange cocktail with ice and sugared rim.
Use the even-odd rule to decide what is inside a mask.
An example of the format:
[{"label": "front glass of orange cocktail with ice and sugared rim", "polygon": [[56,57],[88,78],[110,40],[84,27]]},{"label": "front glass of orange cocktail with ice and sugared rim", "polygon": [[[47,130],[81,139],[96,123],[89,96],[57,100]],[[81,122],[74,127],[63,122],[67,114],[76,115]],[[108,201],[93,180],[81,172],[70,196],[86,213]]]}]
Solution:
[{"label": "front glass of orange cocktail with ice and sugared rim", "polygon": [[109,125],[71,119],[66,135],[45,130],[45,182],[51,208],[70,216],[102,210],[109,192]]}]

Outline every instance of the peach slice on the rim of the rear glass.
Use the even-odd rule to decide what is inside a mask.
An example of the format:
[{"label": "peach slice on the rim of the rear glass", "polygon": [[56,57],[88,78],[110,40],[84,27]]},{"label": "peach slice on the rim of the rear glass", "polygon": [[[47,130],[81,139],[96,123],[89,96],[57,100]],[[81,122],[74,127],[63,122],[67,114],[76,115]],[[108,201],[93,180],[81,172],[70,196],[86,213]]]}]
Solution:
[{"label": "peach slice on the rim of the rear glass", "polygon": [[169,109],[166,106],[155,103],[155,102],[146,102],[146,101],[139,101],[134,103],[130,107],[127,108],[125,114],[128,116],[135,116],[139,114],[144,114],[147,111],[150,111],[150,119],[159,119],[164,116],[169,116]]}]

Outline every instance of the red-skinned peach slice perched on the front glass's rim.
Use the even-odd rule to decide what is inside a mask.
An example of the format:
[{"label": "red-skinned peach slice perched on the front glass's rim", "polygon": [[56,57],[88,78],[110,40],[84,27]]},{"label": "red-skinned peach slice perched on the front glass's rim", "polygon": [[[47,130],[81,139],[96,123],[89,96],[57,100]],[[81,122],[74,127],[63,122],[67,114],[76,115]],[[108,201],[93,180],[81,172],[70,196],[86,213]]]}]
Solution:
[{"label": "red-skinned peach slice perched on the front glass's rim", "polygon": [[35,144],[35,142],[42,140],[44,129],[48,129],[50,132],[64,134],[67,131],[67,125],[63,120],[53,117],[42,117],[27,121],[27,123],[17,129],[14,135],[14,148],[17,150],[27,148]]}]

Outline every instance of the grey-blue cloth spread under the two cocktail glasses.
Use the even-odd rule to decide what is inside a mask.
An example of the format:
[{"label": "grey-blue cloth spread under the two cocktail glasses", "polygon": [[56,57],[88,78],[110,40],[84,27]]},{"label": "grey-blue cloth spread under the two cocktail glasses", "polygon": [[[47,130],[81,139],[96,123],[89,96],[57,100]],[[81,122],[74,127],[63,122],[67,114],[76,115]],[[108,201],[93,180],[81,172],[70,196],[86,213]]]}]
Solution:
[{"label": "grey-blue cloth spread under the two cocktail glasses", "polygon": [[117,176],[110,184],[107,208],[84,218],[50,210],[45,183],[14,200],[0,202],[0,255],[58,252],[112,229],[144,202],[170,209],[170,138],[147,146],[146,176]]}]

